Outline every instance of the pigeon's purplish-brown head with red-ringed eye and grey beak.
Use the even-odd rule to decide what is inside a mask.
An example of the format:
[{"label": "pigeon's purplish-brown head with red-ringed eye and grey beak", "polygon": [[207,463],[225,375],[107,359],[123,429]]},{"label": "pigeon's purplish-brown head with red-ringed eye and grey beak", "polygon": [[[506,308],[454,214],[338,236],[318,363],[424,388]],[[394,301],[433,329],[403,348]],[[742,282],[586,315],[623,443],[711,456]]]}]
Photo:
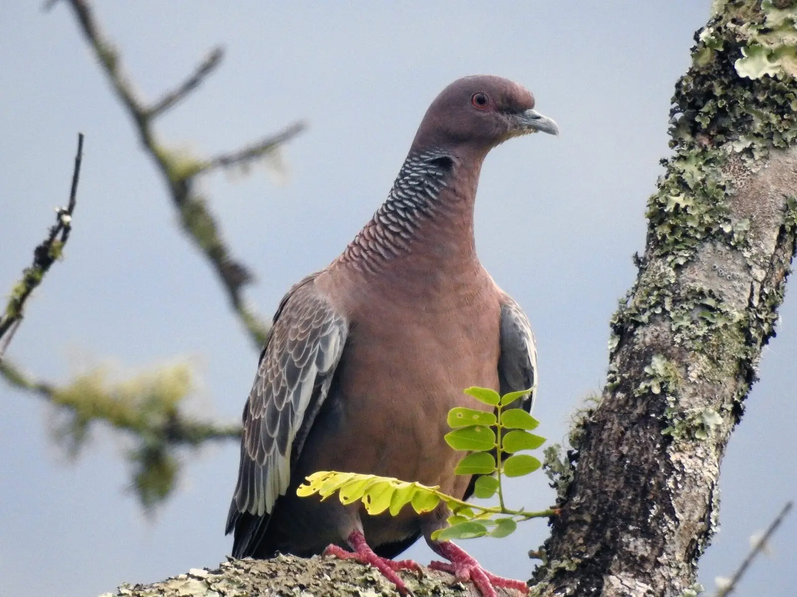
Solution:
[{"label": "pigeon's purplish-brown head with red-ringed eye and grey beak", "polygon": [[466,76],[435,98],[413,146],[470,147],[486,153],[507,139],[537,131],[559,135],[556,123],[534,110],[528,89],[500,76]]}]

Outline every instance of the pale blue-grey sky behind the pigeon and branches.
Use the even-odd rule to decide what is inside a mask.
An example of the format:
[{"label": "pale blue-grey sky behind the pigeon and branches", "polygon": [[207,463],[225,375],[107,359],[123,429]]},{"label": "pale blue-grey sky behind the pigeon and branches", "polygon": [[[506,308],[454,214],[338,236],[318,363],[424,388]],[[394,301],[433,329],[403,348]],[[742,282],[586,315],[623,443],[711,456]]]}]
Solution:
[{"label": "pale blue-grey sky behind the pigeon and branches", "polygon": [[[77,131],[86,149],[73,236],[29,303],[9,357],[42,377],[80,366],[142,367],[188,355],[202,374],[196,409],[237,419],[257,353],[174,209],[70,11],[0,5],[0,291],[29,263],[65,203]],[[98,2],[99,4],[99,2]],[[489,72],[532,89],[562,135],[493,151],[477,201],[477,246],[527,310],[540,349],[540,431],[563,437],[603,383],[608,319],[630,287],[646,197],[667,154],[669,98],[708,0],[646,2],[103,2],[97,11],[141,92],[158,96],[211,46],[226,60],[159,123],[171,146],[215,153],[295,119],[288,176],[219,174],[203,189],[270,314],[285,290],[323,267],[383,201],[430,100],[451,80]],[[722,469],[722,531],[701,579],[728,575],[784,501],[797,494],[793,368],[797,302],[789,292],[748,412]],[[148,521],[124,490],[125,444],[99,431],[77,462],[49,436],[37,399],[0,384],[0,595],[86,597],[217,564],[238,447],[186,453],[179,490]],[[552,501],[543,474],[510,501]],[[507,540],[465,542],[493,572],[527,578],[544,539],[532,521]],[[791,595],[797,519],[756,562],[740,595]],[[408,552],[422,561],[430,552]],[[791,587],[791,588],[790,588]]]}]

